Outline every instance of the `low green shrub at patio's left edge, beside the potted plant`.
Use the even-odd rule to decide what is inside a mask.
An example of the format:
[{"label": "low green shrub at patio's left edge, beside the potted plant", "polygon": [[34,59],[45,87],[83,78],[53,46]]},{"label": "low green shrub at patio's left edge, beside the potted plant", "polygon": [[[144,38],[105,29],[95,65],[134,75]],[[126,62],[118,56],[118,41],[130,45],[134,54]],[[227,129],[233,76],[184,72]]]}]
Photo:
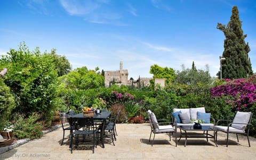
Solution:
[{"label": "low green shrub at patio's left edge, beside the potted plant", "polygon": [[41,114],[36,112],[29,115],[27,118],[24,114],[15,114],[13,120],[13,132],[19,138],[40,138],[42,136],[43,125],[39,120]]}]

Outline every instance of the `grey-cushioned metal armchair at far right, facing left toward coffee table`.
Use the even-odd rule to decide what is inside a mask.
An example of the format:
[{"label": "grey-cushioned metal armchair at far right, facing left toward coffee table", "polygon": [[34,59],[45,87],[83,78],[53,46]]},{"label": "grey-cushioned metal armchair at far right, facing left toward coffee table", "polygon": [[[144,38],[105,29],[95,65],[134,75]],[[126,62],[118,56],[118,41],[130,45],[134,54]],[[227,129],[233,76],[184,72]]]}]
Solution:
[{"label": "grey-cushioned metal armchair at far right, facing left toward coffee table", "polygon": [[[229,133],[235,133],[238,142],[239,142],[239,140],[238,140],[237,134],[244,134],[245,136],[247,136],[249,147],[251,147],[250,140],[249,140],[249,130],[252,125],[251,119],[252,119],[251,112],[237,111],[233,121],[232,120],[218,120],[216,125],[214,126],[214,128],[217,130],[217,131],[215,131],[215,141],[217,141],[218,131],[227,133],[226,147],[228,147]],[[222,125],[218,125],[219,122],[229,122],[229,124],[227,126],[222,126]]]}]

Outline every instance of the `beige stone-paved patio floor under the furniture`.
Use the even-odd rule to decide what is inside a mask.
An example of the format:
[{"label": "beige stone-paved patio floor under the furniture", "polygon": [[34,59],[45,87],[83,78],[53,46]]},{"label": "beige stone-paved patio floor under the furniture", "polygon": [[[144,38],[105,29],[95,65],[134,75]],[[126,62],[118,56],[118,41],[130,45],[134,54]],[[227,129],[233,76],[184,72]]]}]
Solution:
[{"label": "beige stone-paved patio floor under the furniture", "polygon": [[[44,134],[41,139],[31,140],[17,148],[0,155],[0,159],[256,159],[256,139],[239,135],[239,144],[235,134],[230,137],[226,147],[226,134],[218,132],[218,147],[213,139],[185,138],[175,147],[175,138],[169,141],[168,134],[156,134],[153,147],[148,142],[149,124],[116,124],[117,140],[115,146],[109,139],[105,140],[105,148],[99,145],[92,153],[92,148],[75,148],[70,154],[69,141],[60,146],[62,128]],[[68,135],[68,131],[66,131]],[[179,136],[179,135],[178,135]]]}]

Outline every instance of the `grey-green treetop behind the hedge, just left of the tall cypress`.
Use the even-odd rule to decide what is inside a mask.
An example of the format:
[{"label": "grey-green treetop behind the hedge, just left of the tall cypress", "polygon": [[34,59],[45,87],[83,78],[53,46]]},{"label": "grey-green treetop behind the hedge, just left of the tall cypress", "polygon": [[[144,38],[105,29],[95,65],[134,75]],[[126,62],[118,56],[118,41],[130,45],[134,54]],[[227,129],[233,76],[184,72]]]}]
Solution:
[{"label": "grey-green treetop behind the hedge, just left of the tall cypress", "polygon": [[[193,62],[194,64],[194,62]],[[197,70],[194,64],[194,68],[185,69],[185,65],[182,65],[182,71],[177,71],[175,76],[175,83],[193,85],[193,86],[203,86],[210,87],[212,85],[213,79],[209,73],[209,66],[206,65],[206,70]]]}]

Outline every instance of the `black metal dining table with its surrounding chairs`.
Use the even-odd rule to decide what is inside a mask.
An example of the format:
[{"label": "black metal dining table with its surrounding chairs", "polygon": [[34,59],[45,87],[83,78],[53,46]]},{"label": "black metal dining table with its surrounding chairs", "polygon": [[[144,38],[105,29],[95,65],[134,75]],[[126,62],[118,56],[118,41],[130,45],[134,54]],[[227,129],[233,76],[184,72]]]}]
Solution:
[{"label": "black metal dining table with its surrounding chairs", "polygon": [[[102,148],[105,148],[104,139],[111,136],[111,141],[114,144],[116,140],[116,120],[119,112],[114,117],[111,117],[111,112],[101,110],[100,114],[94,113],[93,116],[84,116],[83,113],[60,115],[60,120],[63,129],[63,140],[65,139],[65,131],[69,131],[68,140],[70,140],[69,148],[70,152],[73,153],[73,139],[75,139],[75,147],[78,147],[79,142],[85,142],[84,145],[88,146],[89,141],[92,141],[92,151],[94,153],[94,147],[97,148],[99,141],[101,141]],[[69,122],[68,127],[65,127],[63,123]],[[79,138],[82,135],[82,138]],[[86,143],[88,142],[88,143]]]}]

